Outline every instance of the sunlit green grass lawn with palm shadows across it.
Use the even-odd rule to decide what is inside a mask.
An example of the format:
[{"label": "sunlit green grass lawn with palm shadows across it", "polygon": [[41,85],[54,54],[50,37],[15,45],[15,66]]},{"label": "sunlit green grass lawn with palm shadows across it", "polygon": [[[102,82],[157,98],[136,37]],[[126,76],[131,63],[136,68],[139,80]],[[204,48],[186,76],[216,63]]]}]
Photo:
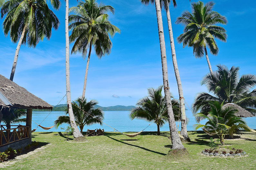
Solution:
[{"label": "sunlit green grass lawn with palm shadows across it", "polygon": [[[40,149],[24,159],[5,162],[4,169],[256,169],[256,135],[243,132],[237,139],[225,140],[229,148],[243,149],[246,157],[208,157],[209,136],[189,132],[191,142],[183,143],[189,156],[167,157],[170,132],[143,132],[134,138],[116,132],[87,137],[88,142],[66,141],[63,132],[33,132]],[[72,136],[70,137],[72,138]],[[11,164],[11,162],[14,162]],[[3,164],[3,163],[2,163]],[[0,164],[1,166],[1,164]]]}]

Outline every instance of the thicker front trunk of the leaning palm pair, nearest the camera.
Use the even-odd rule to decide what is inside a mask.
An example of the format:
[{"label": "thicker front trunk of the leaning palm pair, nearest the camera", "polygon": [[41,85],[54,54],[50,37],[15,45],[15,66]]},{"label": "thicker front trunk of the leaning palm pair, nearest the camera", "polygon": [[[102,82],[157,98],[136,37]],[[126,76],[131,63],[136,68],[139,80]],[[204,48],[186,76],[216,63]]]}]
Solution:
[{"label": "thicker front trunk of the leaning palm pair, nearest the camera", "polygon": [[164,97],[165,97],[166,107],[167,107],[168,122],[169,122],[171,140],[172,140],[172,149],[184,149],[177,132],[173,111],[172,111],[172,102],[171,102],[170,88],[169,88],[169,82],[168,82],[167,61],[166,61],[165,42],[164,42],[164,35],[163,35],[160,0],[155,0],[155,9],[156,9],[156,16],[157,16],[157,24],[158,24],[160,50],[161,50]]}]

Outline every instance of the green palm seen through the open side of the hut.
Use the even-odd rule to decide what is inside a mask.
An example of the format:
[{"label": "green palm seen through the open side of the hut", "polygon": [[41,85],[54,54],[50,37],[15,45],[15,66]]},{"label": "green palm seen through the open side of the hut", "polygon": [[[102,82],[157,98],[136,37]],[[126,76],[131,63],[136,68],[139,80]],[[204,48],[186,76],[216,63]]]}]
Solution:
[{"label": "green palm seen through the open side of the hut", "polygon": [[5,109],[2,113],[2,122],[6,124],[7,129],[11,128],[12,123],[26,122],[26,118],[22,118],[26,116],[25,110]]}]

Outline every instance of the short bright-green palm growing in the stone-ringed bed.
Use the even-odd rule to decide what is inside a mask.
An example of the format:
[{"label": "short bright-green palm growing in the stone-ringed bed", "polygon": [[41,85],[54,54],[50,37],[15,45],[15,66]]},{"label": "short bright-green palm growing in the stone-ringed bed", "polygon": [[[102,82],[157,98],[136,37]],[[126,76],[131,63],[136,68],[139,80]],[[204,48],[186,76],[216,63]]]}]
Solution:
[{"label": "short bright-green palm growing in the stone-ringed bed", "polygon": [[222,106],[223,102],[215,101],[210,104],[211,111],[207,116],[201,113],[196,114],[196,116],[203,116],[208,121],[205,124],[195,124],[195,130],[202,127],[207,134],[218,135],[223,145],[225,135],[230,134],[233,136],[233,133],[237,130],[250,132],[251,128],[246,125],[246,122],[241,117],[234,115],[237,112],[236,109],[231,107],[223,108]]}]

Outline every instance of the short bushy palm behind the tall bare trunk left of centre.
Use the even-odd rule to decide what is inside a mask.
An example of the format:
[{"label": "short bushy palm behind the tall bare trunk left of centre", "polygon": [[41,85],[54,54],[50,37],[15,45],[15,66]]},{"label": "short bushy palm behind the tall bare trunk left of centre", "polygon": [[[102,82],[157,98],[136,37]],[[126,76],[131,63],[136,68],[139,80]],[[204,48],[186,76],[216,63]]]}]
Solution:
[{"label": "short bushy palm behind the tall bare trunk left of centre", "polygon": [[[73,101],[73,103],[75,105],[73,107],[75,123],[79,126],[81,133],[83,133],[85,125],[90,126],[95,123],[99,123],[100,125],[102,124],[104,119],[103,111],[100,109],[94,109],[94,106],[98,104],[98,102],[94,100],[87,102],[86,98],[77,98],[76,102]],[[67,114],[68,111],[66,112],[66,115]],[[70,124],[69,116],[59,116],[58,119],[54,122],[56,128],[62,123]]]}]

